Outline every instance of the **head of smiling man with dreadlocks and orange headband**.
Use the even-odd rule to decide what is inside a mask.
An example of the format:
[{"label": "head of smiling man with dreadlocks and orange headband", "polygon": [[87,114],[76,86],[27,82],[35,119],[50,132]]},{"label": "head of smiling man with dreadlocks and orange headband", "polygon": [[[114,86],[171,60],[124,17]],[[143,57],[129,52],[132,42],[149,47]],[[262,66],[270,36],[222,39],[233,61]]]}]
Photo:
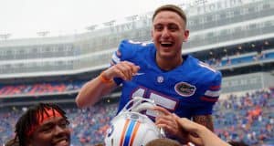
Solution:
[{"label": "head of smiling man with dreadlocks and orange headband", "polygon": [[70,130],[65,111],[56,104],[39,103],[16,122],[20,146],[68,146]]}]

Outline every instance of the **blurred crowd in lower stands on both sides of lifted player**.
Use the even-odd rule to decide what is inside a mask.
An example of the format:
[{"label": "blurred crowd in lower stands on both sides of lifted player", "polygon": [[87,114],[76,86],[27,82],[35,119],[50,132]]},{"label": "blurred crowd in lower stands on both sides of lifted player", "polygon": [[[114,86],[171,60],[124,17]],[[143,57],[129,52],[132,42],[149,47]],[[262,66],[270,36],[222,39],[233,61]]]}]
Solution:
[{"label": "blurred crowd in lower stands on both sides of lifted player", "polygon": [[[72,130],[74,146],[103,142],[118,103],[100,102],[85,110],[65,109]],[[219,99],[214,108],[216,134],[225,141],[245,141],[251,146],[274,145],[274,89],[259,90],[244,96]],[[0,112],[0,145],[11,139],[14,126],[23,110]]]}]

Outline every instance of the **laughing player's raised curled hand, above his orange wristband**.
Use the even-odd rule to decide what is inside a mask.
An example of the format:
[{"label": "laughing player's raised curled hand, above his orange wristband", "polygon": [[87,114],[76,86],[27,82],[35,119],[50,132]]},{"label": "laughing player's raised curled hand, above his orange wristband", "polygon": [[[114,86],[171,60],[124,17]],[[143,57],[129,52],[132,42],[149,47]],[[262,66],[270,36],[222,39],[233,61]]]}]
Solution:
[{"label": "laughing player's raised curled hand, above his orange wristband", "polygon": [[121,61],[120,63],[113,65],[111,68],[106,69],[103,72],[105,78],[122,78],[123,80],[132,80],[138,70],[139,66],[134,65],[129,61]]}]

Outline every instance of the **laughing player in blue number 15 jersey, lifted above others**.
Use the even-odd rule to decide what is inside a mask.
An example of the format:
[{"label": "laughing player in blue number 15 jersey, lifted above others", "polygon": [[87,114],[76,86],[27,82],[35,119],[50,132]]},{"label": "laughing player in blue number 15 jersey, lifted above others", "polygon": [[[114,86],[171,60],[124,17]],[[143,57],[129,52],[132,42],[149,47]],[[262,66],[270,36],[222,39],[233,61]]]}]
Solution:
[{"label": "laughing player in blue number 15 jersey, lifted above others", "polygon": [[[213,130],[212,109],[220,94],[221,73],[190,55],[182,55],[186,29],[184,11],[163,5],[153,14],[152,43],[123,40],[113,54],[111,67],[87,82],[79,91],[79,107],[96,103],[100,97],[122,85],[119,111],[133,97],[153,99],[180,117],[195,120]],[[156,115],[146,111],[154,120]],[[178,124],[167,114],[158,117],[170,137]]]}]

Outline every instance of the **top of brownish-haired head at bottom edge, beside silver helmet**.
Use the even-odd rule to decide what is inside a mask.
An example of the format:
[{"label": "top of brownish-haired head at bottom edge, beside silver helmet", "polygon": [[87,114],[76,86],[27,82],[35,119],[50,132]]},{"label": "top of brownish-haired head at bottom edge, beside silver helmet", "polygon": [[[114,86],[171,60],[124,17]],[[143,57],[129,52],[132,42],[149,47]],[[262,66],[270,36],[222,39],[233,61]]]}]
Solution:
[{"label": "top of brownish-haired head at bottom edge, beside silver helmet", "polygon": [[181,146],[178,141],[174,141],[171,139],[160,138],[155,139],[153,141],[149,141],[145,146]]}]

